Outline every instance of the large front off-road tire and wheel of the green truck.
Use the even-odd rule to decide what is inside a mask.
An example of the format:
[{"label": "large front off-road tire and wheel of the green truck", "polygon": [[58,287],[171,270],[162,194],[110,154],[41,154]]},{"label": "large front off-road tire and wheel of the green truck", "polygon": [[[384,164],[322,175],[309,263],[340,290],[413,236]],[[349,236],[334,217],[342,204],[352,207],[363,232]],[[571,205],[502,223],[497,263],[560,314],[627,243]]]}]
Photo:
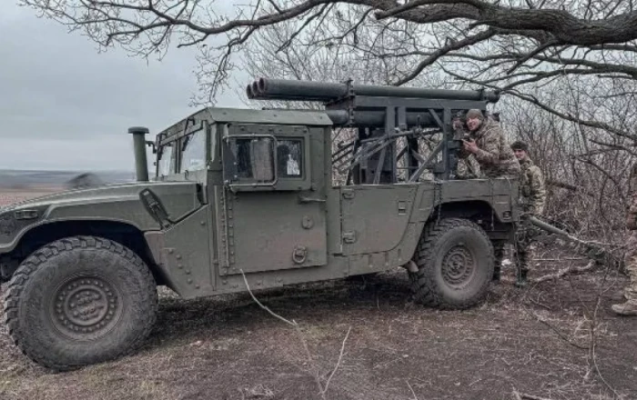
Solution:
[{"label": "large front off-road tire and wheel of the green truck", "polygon": [[5,324],[22,352],[56,371],[134,352],[157,319],[157,286],[133,251],[95,236],[29,255],[5,294]]}]

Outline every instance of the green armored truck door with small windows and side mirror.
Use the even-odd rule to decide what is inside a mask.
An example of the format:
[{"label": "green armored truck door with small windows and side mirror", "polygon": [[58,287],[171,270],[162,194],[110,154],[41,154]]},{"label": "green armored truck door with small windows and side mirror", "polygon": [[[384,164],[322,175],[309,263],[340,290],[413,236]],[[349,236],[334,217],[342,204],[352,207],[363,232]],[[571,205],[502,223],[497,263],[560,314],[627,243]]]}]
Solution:
[{"label": "green armored truck door with small windows and side mirror", "polygon": [[322,135],[304,125],[226,125],[221,275],[327,264]]}]

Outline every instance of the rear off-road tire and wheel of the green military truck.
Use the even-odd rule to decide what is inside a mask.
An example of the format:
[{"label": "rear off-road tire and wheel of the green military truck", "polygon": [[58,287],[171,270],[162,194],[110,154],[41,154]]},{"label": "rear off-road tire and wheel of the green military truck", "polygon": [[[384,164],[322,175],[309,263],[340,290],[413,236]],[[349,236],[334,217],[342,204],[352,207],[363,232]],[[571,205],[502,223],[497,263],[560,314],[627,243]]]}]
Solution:
[{"label": "rear off-road tire and wheel of the green military truck", "polygon": [[440,309],[480,304],[493,277],[493,245],[479,225],[444,218],[426,226],[410,272],[414,300]]}]

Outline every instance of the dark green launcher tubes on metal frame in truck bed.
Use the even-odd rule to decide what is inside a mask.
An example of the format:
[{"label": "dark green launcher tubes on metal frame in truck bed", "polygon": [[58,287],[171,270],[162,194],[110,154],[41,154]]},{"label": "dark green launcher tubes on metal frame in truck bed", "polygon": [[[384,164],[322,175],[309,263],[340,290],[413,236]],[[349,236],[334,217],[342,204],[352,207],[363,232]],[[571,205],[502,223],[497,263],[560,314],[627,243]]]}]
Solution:
[{"label": "dark green launcher tubes on metal frame in truck bed", "polygon": [[[452,118],[471,108],[485,112],[499,100],[497,93],[485,90],[268,78],[248,85],[247,93],[255,100],[322,102],[335,127],[354,130],[353,139],[339,143],[332,154],[339,173],[347,173],[346,185],[416,182],[426,170],[436,179],[453,179],[461,137],[453,131]],[[423,155],[419,139],[437,134],[442,140]]]}]

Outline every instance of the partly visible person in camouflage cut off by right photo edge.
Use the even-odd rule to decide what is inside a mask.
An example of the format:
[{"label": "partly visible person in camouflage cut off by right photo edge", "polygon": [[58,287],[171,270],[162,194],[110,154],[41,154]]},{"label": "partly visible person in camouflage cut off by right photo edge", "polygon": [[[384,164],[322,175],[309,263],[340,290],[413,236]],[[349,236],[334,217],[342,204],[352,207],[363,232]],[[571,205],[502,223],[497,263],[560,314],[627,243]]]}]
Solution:
[{"label": "partly visible person in camouflage cut off by right photo edge", "polygon": [[631,235],[626,243],[623,265],[631,282],[623,290],[626,302],[611,307],[619,315],[637,315],[637,164],[632,165],[628,190],[631,205],[626,213],[626,227],[631,230]]}]

